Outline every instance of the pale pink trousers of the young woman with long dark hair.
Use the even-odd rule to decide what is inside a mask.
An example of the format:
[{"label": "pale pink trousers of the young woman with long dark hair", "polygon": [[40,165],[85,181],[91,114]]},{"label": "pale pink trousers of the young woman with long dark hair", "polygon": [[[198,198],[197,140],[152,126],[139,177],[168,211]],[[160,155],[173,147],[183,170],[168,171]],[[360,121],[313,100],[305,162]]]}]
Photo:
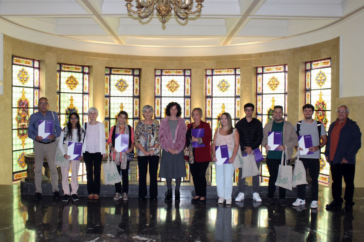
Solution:
[{"label": "pale pink trousers of the young woman with long dark hair", "polygon": [[[68,172],[70,171],[70,161],[68,161],[68,168],[60,167],[62,172],[62,189],[64,194],[71,195],[70,193],[70,185],[68,185]],[[80,161],[79,160],[71,160],[71,188],[72,194],[77,194],[78,190],[78,170],[80,168]]]}]

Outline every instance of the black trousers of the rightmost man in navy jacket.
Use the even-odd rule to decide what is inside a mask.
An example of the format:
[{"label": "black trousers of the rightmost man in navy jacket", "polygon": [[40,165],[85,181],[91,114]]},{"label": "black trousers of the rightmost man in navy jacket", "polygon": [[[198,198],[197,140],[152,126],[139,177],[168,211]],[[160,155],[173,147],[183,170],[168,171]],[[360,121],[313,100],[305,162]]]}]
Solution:
[{"label": "black trousers of the rightmost man in navy jacket", "polygon": [[342,183],[343,177],[345,181],[345,205],[354,205],[354,176],[355,176],[355,165],[353,164],[332,164],[330,167],[332,176],[332,197],[335,202],[343,203],[342,194]]}]

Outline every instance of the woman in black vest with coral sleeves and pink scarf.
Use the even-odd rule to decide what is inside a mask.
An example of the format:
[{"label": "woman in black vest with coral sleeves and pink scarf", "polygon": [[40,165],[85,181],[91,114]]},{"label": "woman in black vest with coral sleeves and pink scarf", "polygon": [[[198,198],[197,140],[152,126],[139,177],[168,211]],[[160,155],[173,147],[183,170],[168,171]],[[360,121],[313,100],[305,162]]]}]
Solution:
[{"label": "woman in black vest with coral sleeves and pink scarf", "polygon": [[[110,151],[112,152],[112,160],[115,161],[118,172],[123,179],[123,185],[121,182],[115,183],[115,196],[114,200],[128,200],[128,188],[129,188],[129,164],[130,161],[127,160],[127,153],[134,152],[134,130],[133,128],[126,124],[128,120],[128,113],[125,111],[120,111],[118,114],[118,122],[116,125],[110,128],[109,138],[107,143],[109,144]],[[127,134],[129,135],[129,147],[126,152],[117,152],[114,148],[115,145],[115,135],[116,134]]]}]

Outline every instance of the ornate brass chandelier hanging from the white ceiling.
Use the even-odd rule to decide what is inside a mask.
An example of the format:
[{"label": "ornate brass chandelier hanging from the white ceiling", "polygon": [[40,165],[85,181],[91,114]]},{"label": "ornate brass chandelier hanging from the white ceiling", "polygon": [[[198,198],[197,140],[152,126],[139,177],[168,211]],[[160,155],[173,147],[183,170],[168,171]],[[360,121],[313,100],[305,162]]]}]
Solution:
[{"label": "ornate brass chandelier hanging from the white ceiling", "polygon": [[[141,19],[149,17],[151,13],[154,11],[154,5],[155,5],[155,9],[159,13],[159,16],[162,17],[162,23],[164,24],[166,22],[166,17],[172,11],[172,5],[176,16],[179,19],[185,20],[188,18],[188,15],[196,14],[201,11],[202,3],[204,0],[195,0],[195,2],[197,3],[197,9],[192,12],[191,12],[192,9],[191,5],[193,3],[193,0],[135,0],[137,2],[135,8],[138,9],[135,11],[131,9],[131,2],[134,0],[125,0],[125,1],[127,2],[126,6],[128,10],[132,13],[137,13],[138,17],[140,17]],[[183,14],[180,15],[178,13],[178,10],[181,10],[184,16],[182,16]]]}]

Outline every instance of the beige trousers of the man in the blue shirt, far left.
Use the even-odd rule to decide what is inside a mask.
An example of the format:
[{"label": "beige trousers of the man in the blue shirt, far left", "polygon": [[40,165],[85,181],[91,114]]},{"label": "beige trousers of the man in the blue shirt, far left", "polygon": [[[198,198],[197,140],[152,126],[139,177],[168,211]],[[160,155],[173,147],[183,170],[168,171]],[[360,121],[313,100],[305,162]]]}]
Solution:
[{"label": "beige trousers of the man in the blue shirt, far left", "polygon": [[47,157],[48,166],[51,171],[52,191],[59,191],[58,172],[54,165],[56,156],[56,141],[50,144],[42,144],[34,141],[34,163],[35,163],[35,192],[42,193],[42,168],[44,155]]}]

